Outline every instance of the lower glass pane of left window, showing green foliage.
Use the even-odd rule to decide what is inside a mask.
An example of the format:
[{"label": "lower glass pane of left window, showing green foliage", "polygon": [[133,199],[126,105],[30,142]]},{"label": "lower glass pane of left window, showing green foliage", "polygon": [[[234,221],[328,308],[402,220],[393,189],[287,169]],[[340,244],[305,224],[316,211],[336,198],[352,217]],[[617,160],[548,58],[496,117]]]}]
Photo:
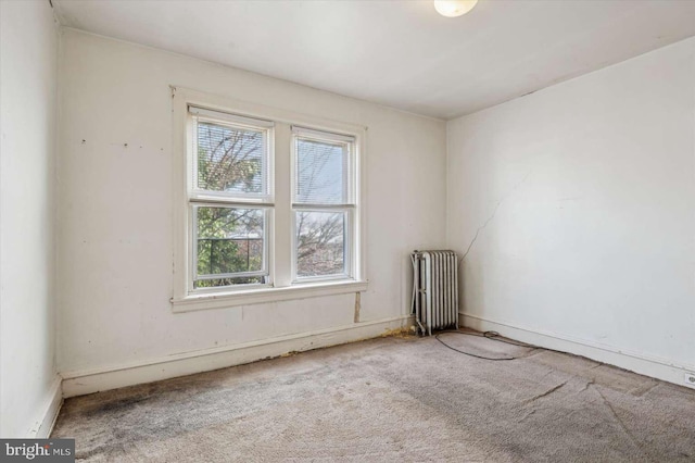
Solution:
[{"label": "lower glass pane of left window, showing green foliage", "polygon": [[[198,286],[227,286],[225,278],[249,272],[262,272],[264,265],[263,209],[197,207]],[[206,279],[201,276],[225,275],[225,278]],[[238,275],[258,277],[263,275]],[[227,278],[229,279],[229,278]],[[216,281],[216,284],[215,284]],[[239,281],[247,283],[247,281]],[[256,281],[248,281],[256,283]]]}]

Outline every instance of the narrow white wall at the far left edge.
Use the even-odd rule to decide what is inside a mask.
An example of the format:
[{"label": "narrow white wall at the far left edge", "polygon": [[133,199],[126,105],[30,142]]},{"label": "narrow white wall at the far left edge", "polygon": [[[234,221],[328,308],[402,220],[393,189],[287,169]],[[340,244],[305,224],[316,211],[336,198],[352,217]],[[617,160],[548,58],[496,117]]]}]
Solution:
[{"label": "narrow white wall at the far left edge", "polygon": [[53,300],[58,33],[48,1],[2,1],[0,16],[0,436],[30,437],[48,433],[60,404]]}]

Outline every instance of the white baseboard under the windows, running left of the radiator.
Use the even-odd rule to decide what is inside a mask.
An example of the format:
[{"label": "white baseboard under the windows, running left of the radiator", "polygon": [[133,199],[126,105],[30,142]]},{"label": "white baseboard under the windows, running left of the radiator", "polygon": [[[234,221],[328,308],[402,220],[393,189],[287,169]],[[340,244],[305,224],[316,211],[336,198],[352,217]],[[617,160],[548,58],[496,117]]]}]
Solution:
[{"label": "white baseboard under the windows, running left of the radiator", "polygon": [[410,316],[400,316],[263,339],[242,345],[186,352],[115,367],[62,373],[63,397],[84,396],[102,390],[241,365],[288,352],[302,352],[375,338],[393,329],[409,327],[412,324],[413,318]]}]

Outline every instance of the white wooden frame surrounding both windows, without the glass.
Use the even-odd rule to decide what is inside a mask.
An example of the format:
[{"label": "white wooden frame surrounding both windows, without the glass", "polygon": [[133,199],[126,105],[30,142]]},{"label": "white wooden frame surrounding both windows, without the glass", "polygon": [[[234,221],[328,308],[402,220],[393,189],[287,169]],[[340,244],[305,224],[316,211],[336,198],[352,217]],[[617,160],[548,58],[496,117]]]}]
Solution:
[{"label": "white wooden frame surrounding both windows, without the glass", "polygon": [[[172,87],[173,101],[173,227],[174,227],[174,281],[172,305],[174,312],[190,312],[206,309],[224,309],[252,303],[275,302],[291,299],[304,299],[319,296],[359,292],[367,290],[366,240],[365,240],[365,141],[366,127],[342,122],[313,117],[292,111],[268,108],[261,104],[239,101],[232,98],[212,96],[200,91]],[[210,110],[216,117],[219,113],[229,116],[232,124],[256,126],[258,121],[273,123],[268,128],[269,172],[267,198],[232,201],[233,207],[264,209],[266,264],[268,281],[265,285],[236,285],[218,288],[193,289],[192,275],[195,271],[193,255],[193,207],[195,202],[210,202],[210,205],[230,207],[228,199],[216,193],[201,195],[191,189],[194,170],[191,154],[192,117],[189,105]],[[245,124],[244,124],[245,121]],[[350,252],[345,252],[348,275],[318,278],[296,278],[295,268],[295,224],[294,208],[294,135],[292,127],[302,130],[316,130],[319,136],[327,134],[345,137],[353,142],[350,162],[354,185],[350,204],[340,204],[328,209],[338,211],[349,209],[345,240],[350,242]],[[224,196],[224,193],[222,195]],[[312,209],[315,210],[315,209]],[[342,210],[341,210],[342,211]]]}]

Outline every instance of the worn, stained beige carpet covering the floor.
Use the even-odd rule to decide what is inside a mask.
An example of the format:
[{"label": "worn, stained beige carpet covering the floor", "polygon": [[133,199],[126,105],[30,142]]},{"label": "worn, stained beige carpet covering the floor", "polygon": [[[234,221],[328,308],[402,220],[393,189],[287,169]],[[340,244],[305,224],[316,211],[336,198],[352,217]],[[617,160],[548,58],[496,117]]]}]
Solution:
[{"label": "worn, stained beige carpet covering the floor", "polygon": [[90,462],[694,462],[695,390],[445,334],[383,338],[65,401]]}]

